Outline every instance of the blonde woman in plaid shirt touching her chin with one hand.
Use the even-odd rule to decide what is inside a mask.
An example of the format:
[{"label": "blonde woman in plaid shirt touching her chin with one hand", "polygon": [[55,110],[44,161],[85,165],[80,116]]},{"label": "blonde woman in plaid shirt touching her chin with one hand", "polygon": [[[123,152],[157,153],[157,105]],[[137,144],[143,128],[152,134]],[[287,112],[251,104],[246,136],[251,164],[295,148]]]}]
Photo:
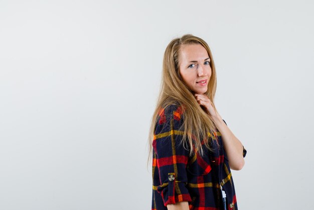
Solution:
[{"label": "blonde woman in plaid shirt touching her chin with one hand", "polygon": [[237,209],[230,169],[244,166],[246,150],[218,114],[215,91],[207,43],[172,40],[150,127],[152,209]]}]

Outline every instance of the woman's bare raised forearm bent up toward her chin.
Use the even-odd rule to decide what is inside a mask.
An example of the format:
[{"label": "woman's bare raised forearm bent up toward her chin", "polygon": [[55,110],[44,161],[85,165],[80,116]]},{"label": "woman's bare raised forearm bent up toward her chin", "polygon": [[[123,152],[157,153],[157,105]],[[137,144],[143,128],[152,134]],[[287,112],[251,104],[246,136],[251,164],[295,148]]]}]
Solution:
[{"label": "woman's bare raised forearm bent up toward her chin", "polygon": [[241,170],[244,166],[242,143],[235,137],[218,113],[213,117],[213,121],[221,134],[230,168],[233,170]]}]

